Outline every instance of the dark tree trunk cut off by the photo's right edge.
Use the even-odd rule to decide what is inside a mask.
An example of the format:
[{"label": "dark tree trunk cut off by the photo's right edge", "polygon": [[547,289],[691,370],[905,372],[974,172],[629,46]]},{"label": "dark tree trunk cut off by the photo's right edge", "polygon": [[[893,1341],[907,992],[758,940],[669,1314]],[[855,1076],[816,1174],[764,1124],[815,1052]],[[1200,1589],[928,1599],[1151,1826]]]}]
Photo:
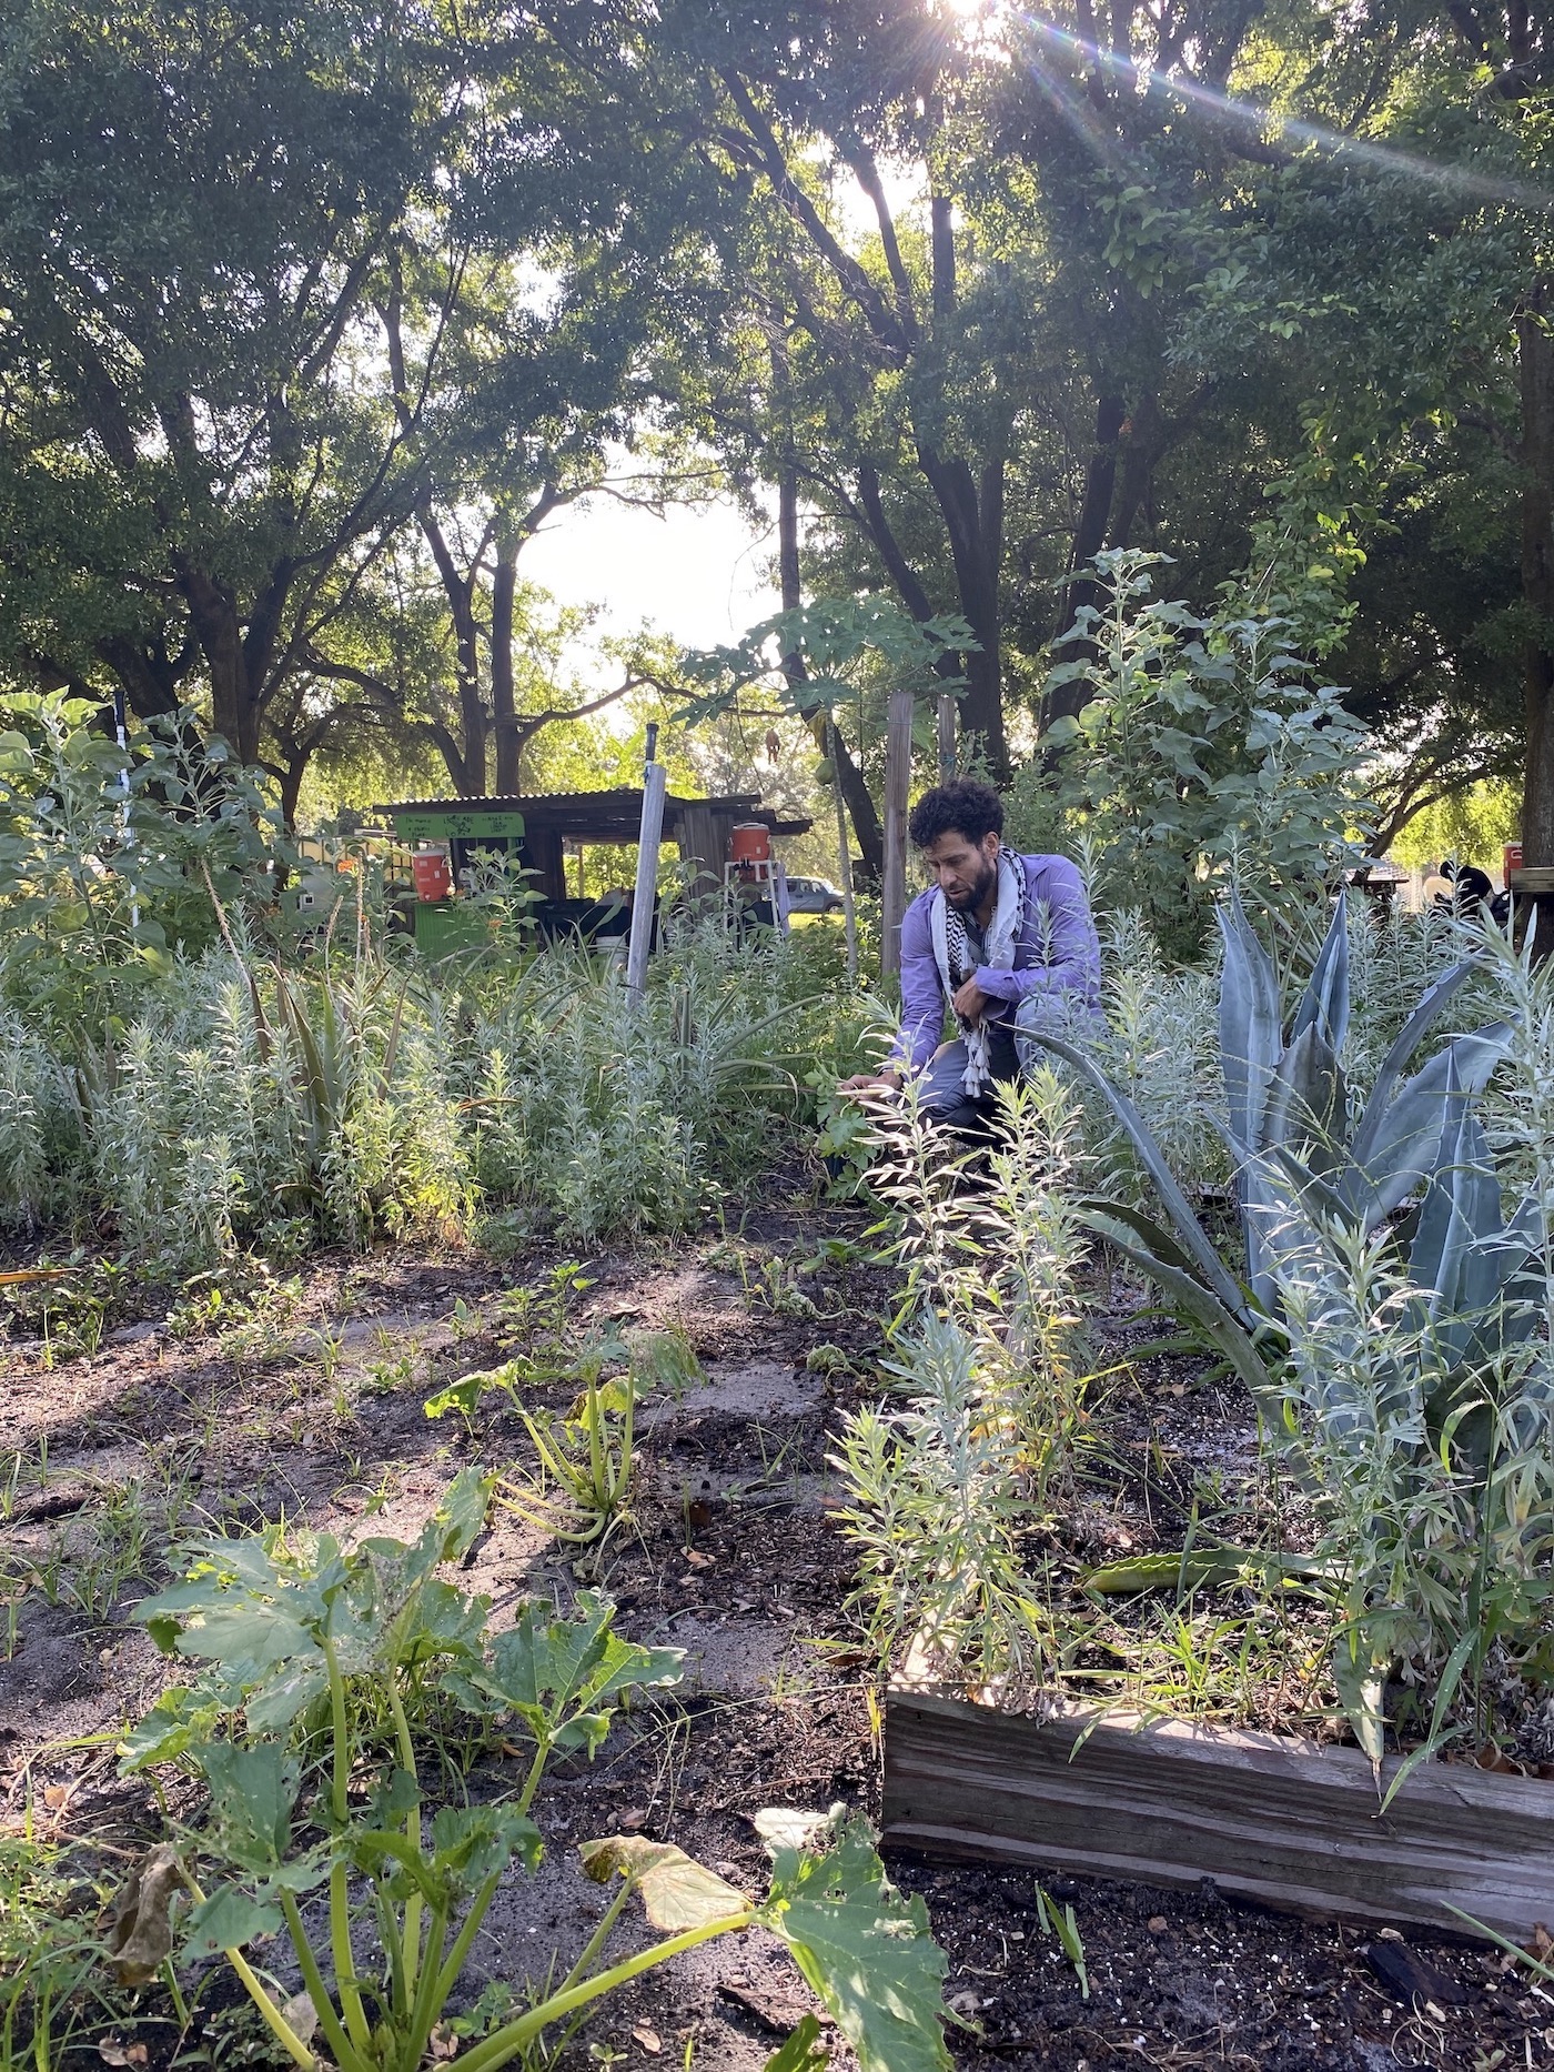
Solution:
[{"label": "dark tree trunk cut off by the photo's right edge", "polygon": [[1554,340],[1550,284],[1539,282],[1517,319],[1521,348],[1521,586],[1529,632],[1523,649],[1527,767],[1521,860],[1554,864]]}]

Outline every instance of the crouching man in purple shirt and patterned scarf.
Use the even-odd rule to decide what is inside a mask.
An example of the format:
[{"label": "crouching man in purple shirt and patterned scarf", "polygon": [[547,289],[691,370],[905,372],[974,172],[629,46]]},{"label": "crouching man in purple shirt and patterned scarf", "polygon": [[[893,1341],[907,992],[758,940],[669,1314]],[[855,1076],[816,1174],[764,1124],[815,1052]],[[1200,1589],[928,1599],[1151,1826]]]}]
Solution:
[{"label": "crouching man in purple shirt and patterned scarf", "polygon": [[[1065,856],[1003,845],[1003,800],[955,777],[924,792],[908,833],[934,874],[901,922],[901,1036],[885,1071],[850,1092],[922,1073],[922,1113],[986,1129],[995,1082],[1019,1075],[1015,1032],[1100,1013],[1100,945],[1084,881]],[[949,1003],[957,1036],[941,1044]]]}]

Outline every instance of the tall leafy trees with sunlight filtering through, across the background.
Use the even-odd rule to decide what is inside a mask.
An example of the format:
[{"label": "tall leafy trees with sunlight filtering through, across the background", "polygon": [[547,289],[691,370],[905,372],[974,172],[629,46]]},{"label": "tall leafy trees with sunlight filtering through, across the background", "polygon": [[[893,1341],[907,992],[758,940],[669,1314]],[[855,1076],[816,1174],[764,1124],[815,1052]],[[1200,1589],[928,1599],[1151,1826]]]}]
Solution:
[{"label": "tall leafy trees with sunlight filtering through, across the background", "polygon": [[[1138,551],[1343,690],[1378,845],[1519,783],[1554,862],[1552,97],[1469,0],[19,0],[0,671],[193,709],[288,816],[352,756],[516,789],[696,688],[574,684],[524,543],[723,491],[787,613],[963,628],[1003,783],[1084,792]],[[881,700],[785,669],[872,862]]]}]

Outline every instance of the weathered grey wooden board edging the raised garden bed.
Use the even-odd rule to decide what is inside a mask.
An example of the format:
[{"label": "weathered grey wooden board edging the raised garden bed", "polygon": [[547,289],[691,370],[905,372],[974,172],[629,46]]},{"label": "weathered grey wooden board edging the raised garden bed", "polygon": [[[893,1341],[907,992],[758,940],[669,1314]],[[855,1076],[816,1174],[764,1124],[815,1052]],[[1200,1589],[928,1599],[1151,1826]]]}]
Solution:
[{"label": "weathered grey wooden board edging the raised garden bed", "polygon": [[1463,1929],[1455,1904],[1519,1941],[1554,1923],[1554,1784],[1421,1763],[1382,1819],[1355,1749],[1092,1722],[1077,1707],[1038,1722],[893,1691],[885,1840],[1152,1886],[1212,1877],[1266,1906],[1353,1921]]}]

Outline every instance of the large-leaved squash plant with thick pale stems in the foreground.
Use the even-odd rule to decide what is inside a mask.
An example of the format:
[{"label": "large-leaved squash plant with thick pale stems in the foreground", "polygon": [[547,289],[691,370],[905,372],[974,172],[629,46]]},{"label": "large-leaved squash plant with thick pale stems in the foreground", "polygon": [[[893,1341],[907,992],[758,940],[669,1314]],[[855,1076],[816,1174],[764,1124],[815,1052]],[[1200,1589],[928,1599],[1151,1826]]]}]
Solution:
[{"label": "large-leaved squash plant with thick pale stems in the foreground", "polygon": [[[348,1552],[278,1527],[191,1542],[184,1581],[139,1606],[162,1647],[207,1666],[131,1732],[124,1765],[182,1763],[207,1811],[197,1832],[153,1850],[126,1892],[114,1933],[122,1983],[174,1954],[182,1915],[178,1956],[226,1956],[305,2072],[319,2062],[315,2043],[340,2072],[419,2072],[503,1875],[541,1859],[530,1807],[547,1761],[593,1757],[632,1691],[680,1676],[678,1651],[622,1639],[609,1602],[588,1593],[568,1618],[530,1604],[491,1633],[489,1602],[437,1577],[472,1546],[487,1498],[485,1477],[460,1475],[412,1544]],[[528,1745],[510,1796],[427,1807],[412,1720],[437,1701]],[[945,1956],[922,1900],[885,1879],[862,1819],[773,1813],[760,1828],[773,1859],[760,1902],[673,1844],[584,1842],[584,1871],[620,1877],[611,1904],[559,1983],[464,2053],[468,2072],[559,2047],[615,1987],[756,1925],[794,1954],[864,2072],[943,2072]],[[609,1962],[634,1894],[661,1939]],[[303,1979],[290,1999],[244,1954],[276,1933]]]}]

